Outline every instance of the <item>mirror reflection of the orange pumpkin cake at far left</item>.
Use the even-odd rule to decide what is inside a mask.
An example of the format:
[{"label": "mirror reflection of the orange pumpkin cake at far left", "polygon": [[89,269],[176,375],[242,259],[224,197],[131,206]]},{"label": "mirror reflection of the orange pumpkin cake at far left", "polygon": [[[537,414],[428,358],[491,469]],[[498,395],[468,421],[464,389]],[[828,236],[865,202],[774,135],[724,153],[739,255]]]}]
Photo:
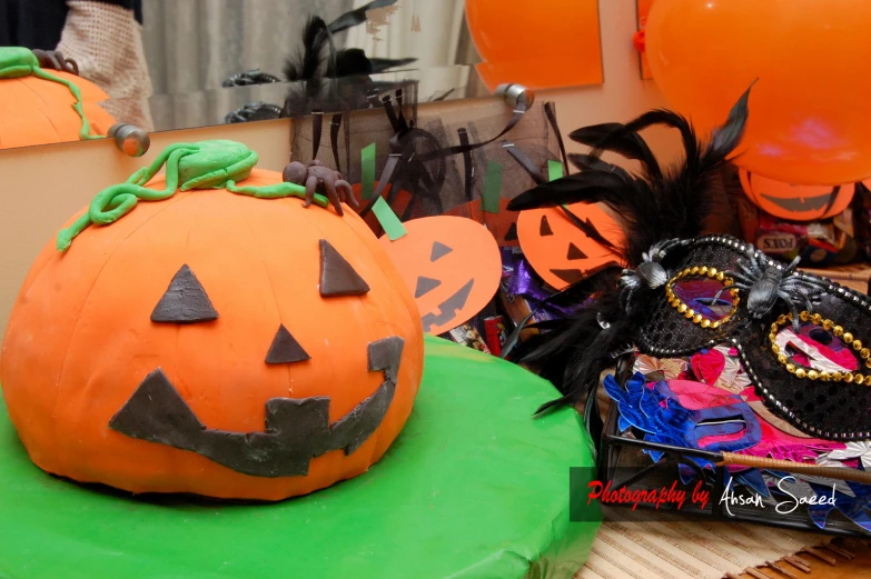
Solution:
[{"label": "mirror reflection of the orange pumpkin cake at far left", "polygon": [[[109,96],[76,74],[51,73],[79,88],[91,134],[105,136],[115,119],[98,103]],[[75,103],[76,97],[58,82],[32,76],[0,79],[0,149],[78,141],[81,118],[72,108]]]}]

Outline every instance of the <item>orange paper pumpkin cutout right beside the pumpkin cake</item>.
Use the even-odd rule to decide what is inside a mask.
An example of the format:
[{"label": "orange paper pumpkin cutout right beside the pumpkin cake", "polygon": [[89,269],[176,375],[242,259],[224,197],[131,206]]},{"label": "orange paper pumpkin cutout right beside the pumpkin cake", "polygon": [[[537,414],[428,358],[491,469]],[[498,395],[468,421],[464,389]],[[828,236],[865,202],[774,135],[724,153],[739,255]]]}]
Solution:
[{"label": "orange paper pumpkin cutout right beside the pumpkin cake", "polygon": [[452,330],[489,303],[502,279],[502,257],[484,226],[451,216],[404,226],[404,237],[382,236],[380,242],[415,296],[425,332]]}]

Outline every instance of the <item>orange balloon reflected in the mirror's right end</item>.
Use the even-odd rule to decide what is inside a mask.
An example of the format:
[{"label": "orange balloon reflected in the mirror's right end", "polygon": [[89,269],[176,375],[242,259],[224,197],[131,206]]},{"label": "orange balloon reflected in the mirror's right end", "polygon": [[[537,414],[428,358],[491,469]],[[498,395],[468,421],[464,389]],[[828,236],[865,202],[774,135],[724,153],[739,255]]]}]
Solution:
[{"label": "orange balloon reflected in the mirror's right end", "polygon": [[466,0],[466,22],[489,90],[603,81],[598,0]]}]

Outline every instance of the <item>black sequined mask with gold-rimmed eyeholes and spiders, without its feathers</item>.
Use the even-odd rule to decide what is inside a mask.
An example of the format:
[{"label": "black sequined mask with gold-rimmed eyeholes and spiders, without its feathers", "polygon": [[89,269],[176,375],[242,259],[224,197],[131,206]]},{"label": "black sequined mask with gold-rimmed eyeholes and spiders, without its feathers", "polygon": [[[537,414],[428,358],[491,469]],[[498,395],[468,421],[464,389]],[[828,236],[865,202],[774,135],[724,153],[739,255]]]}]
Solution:
[{"label": "black sequined mask with gold-rimmed eyeholes and spiders, without its feathers", "polygon": [[[816,438],[871,438],[871,301],[728,236],[659,243],[621,279],[656,357],[733,345],[765,405]],[[643,295],[643,299],[642,299]]]}]

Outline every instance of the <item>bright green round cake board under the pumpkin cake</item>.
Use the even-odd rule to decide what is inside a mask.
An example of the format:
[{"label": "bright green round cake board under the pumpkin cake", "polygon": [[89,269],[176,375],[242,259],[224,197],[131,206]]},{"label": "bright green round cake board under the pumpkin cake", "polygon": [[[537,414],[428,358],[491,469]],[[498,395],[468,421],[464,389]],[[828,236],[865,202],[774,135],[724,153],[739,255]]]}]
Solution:
[{"label": "bright green round cake board under the pumpkin cake", "polygon": [[141,500],[34,467],[0,405],[0,579],[565,578],[597,523],[568,521],[592,465],[553,387],[427,338],[408,423],[372,470],[275,505]]}]

